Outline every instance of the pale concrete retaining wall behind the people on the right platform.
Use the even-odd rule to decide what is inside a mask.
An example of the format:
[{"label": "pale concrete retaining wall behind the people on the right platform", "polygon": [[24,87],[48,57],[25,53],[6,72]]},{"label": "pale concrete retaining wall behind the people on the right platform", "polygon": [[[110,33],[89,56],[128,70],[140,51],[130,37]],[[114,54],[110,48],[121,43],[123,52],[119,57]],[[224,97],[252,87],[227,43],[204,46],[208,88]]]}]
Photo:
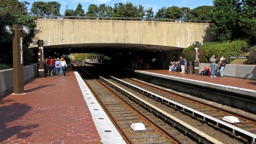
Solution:
[{"label": "pale concrete retaining wall behind the people on the right platform", "polygon": [[[209,66],[210,63],[199,63],[199,70],[202,70],[204,66]],[[215,66],[215,68],[217,65]],[[215,70],[216,75],[220,75]],[[236,78],[247,78],[256,79],[256,65],[231,65],[227,64],[224,69],[224,77],[236,77]]]}]

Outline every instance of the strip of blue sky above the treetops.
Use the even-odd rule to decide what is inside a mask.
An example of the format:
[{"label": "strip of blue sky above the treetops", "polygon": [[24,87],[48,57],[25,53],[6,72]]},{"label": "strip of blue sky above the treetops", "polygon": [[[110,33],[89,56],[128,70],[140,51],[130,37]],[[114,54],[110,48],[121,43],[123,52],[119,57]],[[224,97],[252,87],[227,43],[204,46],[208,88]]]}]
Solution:
[{"label": "strip of blue sky above the treetops", "polygon": [[[30,3],[29,9],[33,2],[43,1],[49,2],[49,0],[18,0],[18,1],[27,1]],[[171,7],[171,6],[178,6],[178,7],[190,7],[190,9],[194,9],[198,6],[213,6],[213,0],[51,0],[57,1],[61,3],[61,14],[64,14],[66,10],[66,6],[69,9],[76,10],[78,3],[82,5],[82,9],[85,12],[88,11],[88,6],[91,4],[96,4],[97,6],[105,3],[107,6],[114,7],[114,3],[127,3],[131,2],[133,5],[142,5],[144,9],[148,9],[149,7],[153,7],[153,11],[156,12],[163,6]]]}]

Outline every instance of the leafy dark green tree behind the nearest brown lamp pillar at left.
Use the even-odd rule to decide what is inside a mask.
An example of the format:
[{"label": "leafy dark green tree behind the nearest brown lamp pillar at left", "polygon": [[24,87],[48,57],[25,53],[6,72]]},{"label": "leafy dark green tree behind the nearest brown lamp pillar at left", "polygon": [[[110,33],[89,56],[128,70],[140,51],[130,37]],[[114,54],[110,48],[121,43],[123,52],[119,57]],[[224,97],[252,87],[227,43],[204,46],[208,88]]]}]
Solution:
[{"label": "leafy dark green tree behind the nearest brown lamp pillar at left", "polygon": [[[12,9],[10,9],[10,4]],[[12,26],[13,24],[22,24],[28,26],[31,29],[29,35],[24,35],[23,45],[24,45],[24,64],[27,65],[31,63],[31,58],[33,54],[28,49],[29,44],[32,42],[32,38],[35,36],[36,22],[35,18],[31,18],[27,15],[27,2],[18,2],[17,0],[3,1],[0,3],[0,26],[3,28],[5,25]],[[13,35],[6,33],[5,31],[0,31],[0,63],[13,63],[12,55],[12,42]]]}]

